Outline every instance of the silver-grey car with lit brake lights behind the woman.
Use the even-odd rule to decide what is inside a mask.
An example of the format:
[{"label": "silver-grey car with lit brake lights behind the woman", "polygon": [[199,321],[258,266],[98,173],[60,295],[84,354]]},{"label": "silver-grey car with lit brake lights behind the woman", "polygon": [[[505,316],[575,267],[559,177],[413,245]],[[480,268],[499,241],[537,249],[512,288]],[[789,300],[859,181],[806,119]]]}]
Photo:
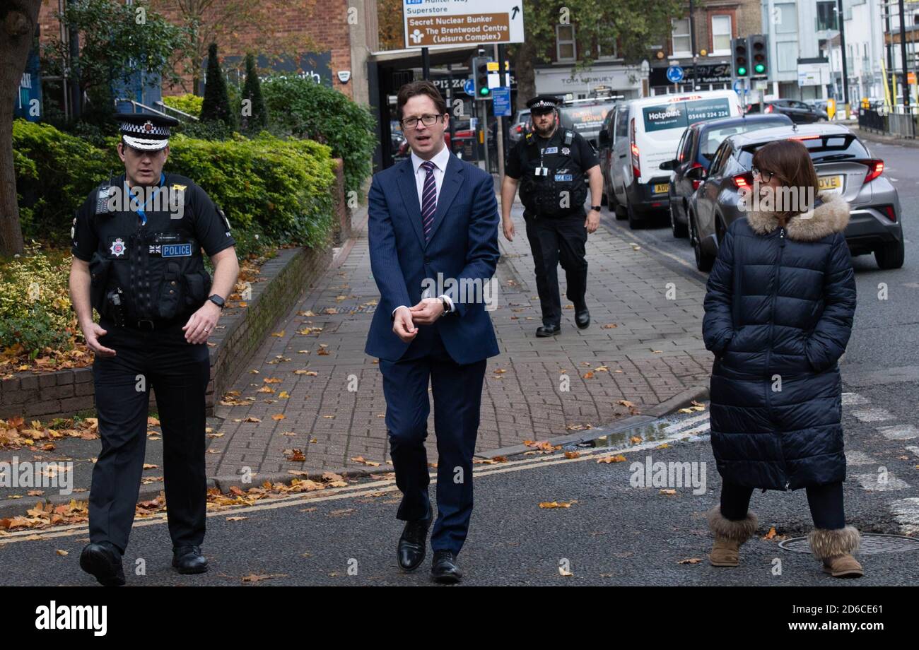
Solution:
[{"label": "silver-grey car with lit brake lights behind the woman", "polygon": [[753,155],[775,140],[800,140],[811,152],[822,192],[842,194],[852,209],[845,241],[853,255],[874,252],[882,269],[903,264],[900,198],[883,175],[884,162],[843,125],[814,124],[748,131],[726,138],[715,153],[709,172],[698,167],[686,173],[702,183],[689,201],[689,241],[696,265],[709,271],[718,246],[738,209],[740,189],[753,185]]}]

